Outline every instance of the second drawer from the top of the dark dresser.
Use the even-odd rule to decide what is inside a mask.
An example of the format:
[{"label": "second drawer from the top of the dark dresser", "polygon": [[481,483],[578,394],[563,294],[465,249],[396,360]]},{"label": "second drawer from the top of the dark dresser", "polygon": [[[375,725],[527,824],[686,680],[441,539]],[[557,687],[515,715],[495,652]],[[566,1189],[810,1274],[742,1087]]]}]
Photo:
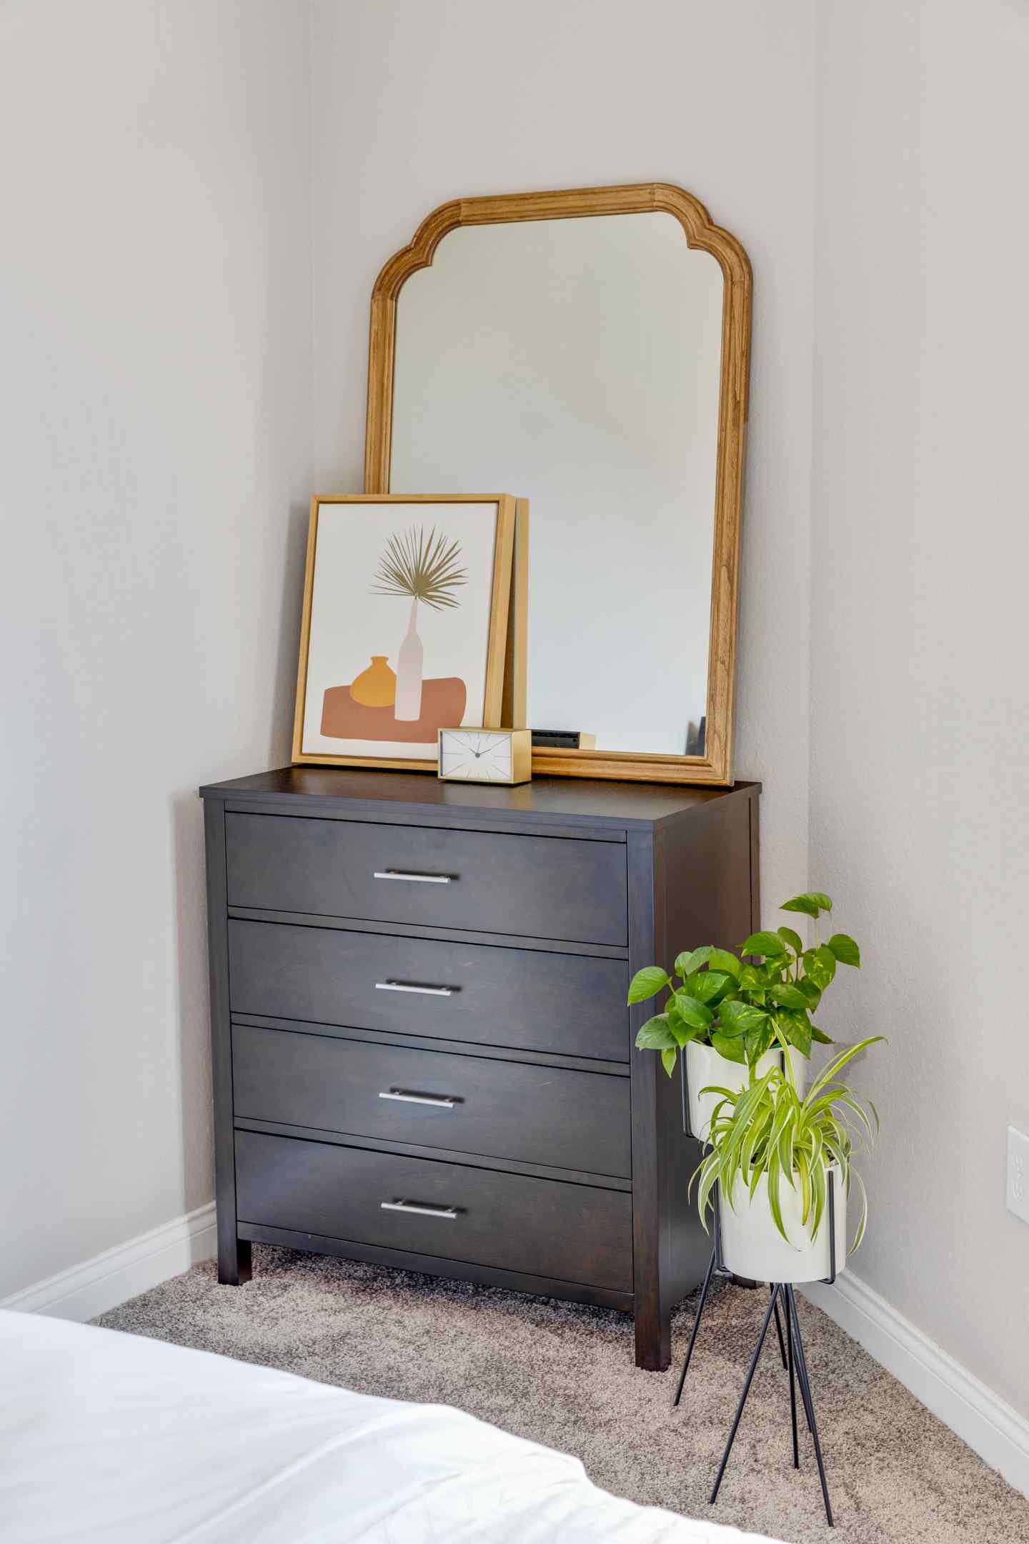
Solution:
[{"label": "second drawer from the top of the dark dresser", "polygon": [[625,960],[241,920],[228,960],[234,1013],[629,1059]]}]

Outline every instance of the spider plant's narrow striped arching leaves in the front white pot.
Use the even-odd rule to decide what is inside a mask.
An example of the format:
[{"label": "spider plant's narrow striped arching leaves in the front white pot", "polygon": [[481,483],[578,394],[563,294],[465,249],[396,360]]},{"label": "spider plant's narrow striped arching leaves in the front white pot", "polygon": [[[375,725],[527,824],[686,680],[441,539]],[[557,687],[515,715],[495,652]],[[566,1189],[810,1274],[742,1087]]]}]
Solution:
[{"label": "spider plant's narrow striped arching leaves in the front white pot", "polygon": [[861,1220],[850,1251],[853,1254],[864,1238],[869,1201],[861,1175],[852,1167],[852,1156],[865,1150],[865,1139],[873,1138],[873,1121],[875,1132],[879,1129],[879,1116],[870,1099],[865,1110],[839,1073],[849,1061],[881,1039],[881,1034],[873,1034],[833,1056],[805,1098],[796,1092],[788,1056],[784,1068],[773,1067],[764,1078],[751,1073],[751,1082],[745,1089],[705,1090],[720,1095],[711,1118],[710,1152],[690,1180],[691,1189],[699,1181],[697,1204],[705,1227],[716,1184],[724,1200],[733,1206],[737,1180],[748,1189],[753,1201],[761,1177],[765,1175],[768,1207],[782,1237],[787,1243],[793,1241],[782,1221],[781,1195],[785,1183],[795,1190],[799,1186],[802,1223],[807,1226],[810,1221],[813,1241],[825,1212],[827,1166],[835,1164],[845,1194],[850,1195],[852,1180],[861,1192]]}]

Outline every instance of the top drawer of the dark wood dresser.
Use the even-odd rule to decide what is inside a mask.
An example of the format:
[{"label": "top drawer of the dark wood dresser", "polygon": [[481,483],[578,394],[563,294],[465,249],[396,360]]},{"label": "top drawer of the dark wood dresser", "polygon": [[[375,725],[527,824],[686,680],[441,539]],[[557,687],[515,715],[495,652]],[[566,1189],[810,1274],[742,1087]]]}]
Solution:
[{"label": "top drawer of the dark wood dresser", "polygon": [[620,841],[230,814],[225,855],[230,906],[619,946],[628,937]]}]

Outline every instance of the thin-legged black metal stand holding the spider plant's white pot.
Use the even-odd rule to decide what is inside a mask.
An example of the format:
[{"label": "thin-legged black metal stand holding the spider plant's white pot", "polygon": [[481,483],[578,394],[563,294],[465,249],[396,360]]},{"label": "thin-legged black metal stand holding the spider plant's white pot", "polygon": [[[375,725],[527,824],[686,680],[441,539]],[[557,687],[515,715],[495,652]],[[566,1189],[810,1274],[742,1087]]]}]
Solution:
[{"label": "thin-legged black metal stand holding the spider plant's white pot", "polygon": [[[682,1390],[687,1382],[687,1373],[690,1371],[690,1360],[693,1357],[693,1348],[697,1340],[697,1329],[700,1328],[700,1319],[703,1315],[703,1308],[708,1299],[708,1291],[711,1286],[711,1277],[716,1271],[725,1271],[722,1265],[722,1220],[719,1209],[719,1186],[714,1186],[714,1248],[711,1251],[711,1260],[708,1261],[707,1275],[703,1277],[703,1286],[700,1289],[700,1302],[697,1303],[697,1312],[693,1320],[693,1329],[690,1331],[690,1345],[687,1346],[687,1357],[682,1365],[682,1373],[679,1376],[679,1387],[676,1388],[676,1397],[673,1400],[673,1408],[682,1399]],[[830,1169],[828,1172],[828,1260],[830,1274],[824,1277],[825,1283],[832,1286],[836,1280],[836,1194],[835,1194],[835,1175]],[[731,1274],[731,1272],[727,1272]],[[782,1337],[782,1323],[779,1320],[779,1303],[782,1303],[782,1315],[785,1319],[785,1346]],[[811,1433],[811,1441],[815,1444],[815,1462],[818,1464],[818,1478],[822,1485],[822,1501],[825,1502],[825,1521],[830,1529],[833,1527],[833,1508],[828,1501],[828,1484],[825,1481],[825,1464],[822,1462],[822,1445],[818,1439],[818,1424],[815,1420],[815,1400],[811,1397],[811,1382],[807,1371],[807,1357],[804,1356],[804,1342],[801,1339],[801,1319],[796,1311],[796,1292],[793,1291],[791,1282],[771,1282],[768,1308],[765,1309],[765,1317],[761,1326],[761,1334],[757,1336],[757,1345],[754,1346],[754,1354],[750,1359],[750,1368],[747,1371],[747,1379],[744,1382],[744,1391],[739,1396],[739,1403],[736,1407],[736,1416],[733,1417],[733,1425],[730,1428],[728,1441],[725,1444],[725,1451],[722,1454],[722,1462],[719,1464],[719,1471],[714,1479],[714,1487],[711,1490],[710,1504],[714,1505],[717,1501],[719,1487],[722,1484],[722,1476],[725,1475],[725,1467],[733,1451],[733,1442],[736,1441],[736,1431],[739,1430],[739,1422],[744,1414],[744,1407],[747,1405],[747,1396],[750,1394],[750,1385],[754,1380],[754,1373],[757,1371],[757,1362],[768,1334],[768,1325],[776,1320],[776,1329],[779,1332],[779,1353],[782,1356],[782,1365],[790,1376],[790,1425],[793,1436],[793,1467],[801,1467],[801,1458],[798,1450],[798,1424],[796,1424],[796,1390],[799,1385],[801,1402],[804,1405],[804,1414],[807,1417],[807,1427]]]}]

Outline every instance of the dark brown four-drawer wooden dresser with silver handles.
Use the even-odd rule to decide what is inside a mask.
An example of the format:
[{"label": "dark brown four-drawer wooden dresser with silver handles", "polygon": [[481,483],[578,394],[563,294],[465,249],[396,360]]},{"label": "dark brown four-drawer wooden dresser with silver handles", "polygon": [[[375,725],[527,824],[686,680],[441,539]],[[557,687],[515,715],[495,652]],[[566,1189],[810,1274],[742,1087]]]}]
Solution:
[{"label": "dark brown four-drawer wooden dresser with silver handles", "polygon": [[710,1244],[629,976],[757,926],[757,786],[282,767],[201,789],[219,1280],[253,1240],[636,1314]]}]

